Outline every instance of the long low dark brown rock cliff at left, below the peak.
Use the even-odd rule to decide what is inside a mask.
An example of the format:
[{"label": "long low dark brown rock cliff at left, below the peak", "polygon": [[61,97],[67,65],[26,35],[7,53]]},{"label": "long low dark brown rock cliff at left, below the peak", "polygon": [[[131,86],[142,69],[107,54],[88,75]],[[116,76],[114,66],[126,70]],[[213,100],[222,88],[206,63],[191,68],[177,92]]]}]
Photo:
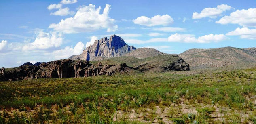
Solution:
[{"label": "long low dark brown rock cliff at left, below the peak", "polygon": [[98,75],[112,75],[116,72],[129,71],[126,64],[93,65],[89,61],[73,61],[70,59],[42,63],[39,66],[23,65],[5,71],[0,70],[0,80],[22,80],[35,78],[71,78]]}]

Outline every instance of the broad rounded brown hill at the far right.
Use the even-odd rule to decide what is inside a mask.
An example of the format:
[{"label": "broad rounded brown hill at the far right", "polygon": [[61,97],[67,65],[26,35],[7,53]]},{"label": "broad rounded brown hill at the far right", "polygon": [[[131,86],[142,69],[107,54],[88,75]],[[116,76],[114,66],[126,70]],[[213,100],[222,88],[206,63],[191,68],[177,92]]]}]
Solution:
[{"label": "broad rounded brown hill at the far right", "polygon": [[256,48],[190,49],[179,56],[193,69],[245,65],[256,62]]}]

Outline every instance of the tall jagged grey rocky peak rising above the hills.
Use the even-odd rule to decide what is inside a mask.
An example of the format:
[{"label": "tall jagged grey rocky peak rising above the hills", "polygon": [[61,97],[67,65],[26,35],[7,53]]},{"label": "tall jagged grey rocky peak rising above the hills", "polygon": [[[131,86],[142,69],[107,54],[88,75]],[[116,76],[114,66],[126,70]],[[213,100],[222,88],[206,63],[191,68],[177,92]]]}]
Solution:
[{"label": "tall jagged grey rocky peak rising above the hills", "polygon": [[72,55],[68,59],[71,60],[86,60],[86,61],[100,61],[110,57],[119,57],[129,53],[136,48],[129,46],[125,41],[116,35],[110,38],[101,38],[96,40],[93,45],[88,46],[80,55]]}]

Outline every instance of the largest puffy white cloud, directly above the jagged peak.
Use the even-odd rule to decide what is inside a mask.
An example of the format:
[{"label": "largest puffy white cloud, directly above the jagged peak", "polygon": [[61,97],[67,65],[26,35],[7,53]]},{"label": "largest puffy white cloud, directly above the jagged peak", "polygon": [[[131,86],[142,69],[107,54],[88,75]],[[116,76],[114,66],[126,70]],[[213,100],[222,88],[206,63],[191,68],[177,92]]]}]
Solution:
[{"label": "largest puffy white cloud, directly above the jagged peak", "polygon": [[115,20],[108,17],[110,5],[106,4],[103,13],[101,7],[95,9],[95,5],[80,6],[74,17],[62,19],[59,23],[50,24],[49,28],[63,33],[93,32],[99,29],[107,29],[107,32],[115,31],[118,26]]}]

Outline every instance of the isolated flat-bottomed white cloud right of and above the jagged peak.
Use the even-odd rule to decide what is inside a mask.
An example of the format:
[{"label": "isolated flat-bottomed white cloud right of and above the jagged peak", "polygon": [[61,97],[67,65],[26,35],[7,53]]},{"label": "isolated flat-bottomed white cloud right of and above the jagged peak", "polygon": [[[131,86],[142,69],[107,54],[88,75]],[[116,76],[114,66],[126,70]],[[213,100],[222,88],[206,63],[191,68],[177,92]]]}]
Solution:
[{"label": "isolated flat-bottomed white cloud right of and above the jagged peak", "polygon": [[171,18],[171,16],[167,14],[162,16],[156,15],[151,18],[148,18],[146,16],[141,16],[133,20],[133,23],[151,27],[156,25],[170,25],[171,23],[173,23],[173,19]]}]

